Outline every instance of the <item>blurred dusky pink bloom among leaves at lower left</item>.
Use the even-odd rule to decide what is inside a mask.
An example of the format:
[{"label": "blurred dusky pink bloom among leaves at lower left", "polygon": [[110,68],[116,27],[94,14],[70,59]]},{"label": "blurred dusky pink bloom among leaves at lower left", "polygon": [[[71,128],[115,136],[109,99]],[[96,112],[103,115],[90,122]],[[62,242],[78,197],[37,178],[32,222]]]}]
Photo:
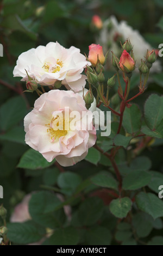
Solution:
[{"label": "blurred dusky pink bloom among leaves at lower left", "polygon": [[10,222],[24,222],[31,219],[28,204],[32,194],[27,194],[20,204],[15,206],[14,212],[11,215]]}]

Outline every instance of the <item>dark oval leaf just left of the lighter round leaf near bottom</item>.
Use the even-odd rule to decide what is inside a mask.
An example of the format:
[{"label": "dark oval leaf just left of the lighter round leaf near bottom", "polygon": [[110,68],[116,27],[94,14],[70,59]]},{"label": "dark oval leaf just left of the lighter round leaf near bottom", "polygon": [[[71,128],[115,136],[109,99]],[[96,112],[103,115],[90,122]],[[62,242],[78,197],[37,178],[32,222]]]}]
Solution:
[{"label": "dark oval leaf just left of the lighter round leaf near bottom", "polygon": [[98,197],[91,197],[84,200],[79,206],[78,217],[83,225],[93,225],[101,218],[104,210],[104,203]]}]

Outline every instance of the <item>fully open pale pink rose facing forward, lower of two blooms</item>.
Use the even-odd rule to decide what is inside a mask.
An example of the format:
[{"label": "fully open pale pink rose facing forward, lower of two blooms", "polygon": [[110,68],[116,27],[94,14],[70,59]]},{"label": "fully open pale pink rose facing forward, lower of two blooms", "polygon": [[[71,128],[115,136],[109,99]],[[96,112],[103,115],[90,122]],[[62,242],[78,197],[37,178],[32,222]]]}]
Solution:
[{"label": "fully open pale pink rose facing forward, lower of two blooms", "polygon": [[[73,111],[80,114],[75,129],[71,128],[71,118],[60,119],[61,114],[64,117],[65,108],[69,108],[69,114]],[[87,123],[83,112],[89,114]],[[55,125],[59,120],[63,127],[58,126],[59,129],[56,130]],[[78,93],[50,90],[35,101],[34,109],[24,118],[25,141],[48,162],[55,158],[61,166],[72,166],[83,160],[88,149],[96,142],[95,128],[92,126],[92,130],[87,129],[92,125],[92,120],[92,112],[86,109],[85,101]]]}]

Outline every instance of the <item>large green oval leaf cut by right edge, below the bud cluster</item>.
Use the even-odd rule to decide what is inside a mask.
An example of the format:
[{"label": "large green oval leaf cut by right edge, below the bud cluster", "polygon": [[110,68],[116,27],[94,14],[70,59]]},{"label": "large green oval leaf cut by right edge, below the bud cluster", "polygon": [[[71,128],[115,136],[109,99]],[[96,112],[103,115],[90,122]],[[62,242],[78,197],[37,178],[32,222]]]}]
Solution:
[{"label": "large green oval leaf cut by right edge, below the bud cluster", "polygon": [[151,130],[157,130],[163,119],[163,96],[152,94],[145,103],[145,120]]}]

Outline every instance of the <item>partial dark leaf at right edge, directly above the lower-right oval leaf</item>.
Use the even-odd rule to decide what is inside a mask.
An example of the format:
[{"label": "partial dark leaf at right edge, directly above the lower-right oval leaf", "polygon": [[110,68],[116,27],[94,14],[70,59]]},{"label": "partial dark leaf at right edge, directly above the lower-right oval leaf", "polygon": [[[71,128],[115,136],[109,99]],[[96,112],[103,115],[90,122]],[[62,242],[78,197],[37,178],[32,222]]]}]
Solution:
[{"label": "partial dark leaf at right edge, directly above the lower-right oval leaf", "polygon": [[156,193],[159,193],[159,186],[163,185],[163,174],[159,172],[150,171],[152,174],[151,182],[149,182],[148,187],[151,188]]}]

